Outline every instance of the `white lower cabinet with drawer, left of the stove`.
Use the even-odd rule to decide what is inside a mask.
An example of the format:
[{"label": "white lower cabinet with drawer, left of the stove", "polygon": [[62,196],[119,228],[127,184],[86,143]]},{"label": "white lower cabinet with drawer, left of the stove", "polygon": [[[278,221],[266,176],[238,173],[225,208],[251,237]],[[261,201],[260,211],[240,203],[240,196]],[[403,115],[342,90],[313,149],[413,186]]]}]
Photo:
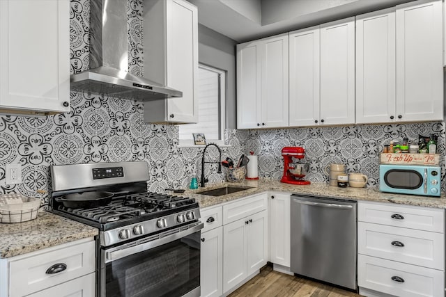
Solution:
[{"label": "white lower cabinet with drawer, left of the stove", "polygon": [[93,297],[95,250],[91,237],[0,259],[0,296]]}]

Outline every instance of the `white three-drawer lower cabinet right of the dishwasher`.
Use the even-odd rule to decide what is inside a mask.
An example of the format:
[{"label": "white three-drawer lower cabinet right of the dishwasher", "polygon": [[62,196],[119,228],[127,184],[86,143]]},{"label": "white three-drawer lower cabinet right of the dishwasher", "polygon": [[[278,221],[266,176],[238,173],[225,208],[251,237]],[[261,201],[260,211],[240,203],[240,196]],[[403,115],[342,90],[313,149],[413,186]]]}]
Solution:
[{"label": "white three-drawer lower cabinet right of the dishwasher", "polygon": [[357,282],[364,296],[445,296],[444,209],[357,203]]}]

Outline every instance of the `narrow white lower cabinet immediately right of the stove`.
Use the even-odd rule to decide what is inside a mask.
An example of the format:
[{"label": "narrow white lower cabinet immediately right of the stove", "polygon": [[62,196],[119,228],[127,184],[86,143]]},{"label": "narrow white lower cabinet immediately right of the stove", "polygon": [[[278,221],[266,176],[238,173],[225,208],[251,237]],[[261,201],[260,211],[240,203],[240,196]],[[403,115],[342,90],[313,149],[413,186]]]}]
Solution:
[{"label": "narrow white lower cabinet immediately right of the stove", "polygon": [[222,207],[201,211],[204,223],[201,233],[201,297],[217,297],[223,294],[223,227]]}]

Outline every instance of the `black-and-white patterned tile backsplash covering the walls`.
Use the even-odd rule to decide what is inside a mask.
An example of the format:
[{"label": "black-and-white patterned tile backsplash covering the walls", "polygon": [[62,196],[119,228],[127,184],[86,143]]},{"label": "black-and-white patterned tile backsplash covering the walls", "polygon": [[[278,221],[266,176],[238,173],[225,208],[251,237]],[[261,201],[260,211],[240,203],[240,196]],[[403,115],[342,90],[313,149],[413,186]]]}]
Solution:
[{"label": "black-and-white patterned tile backsplash covering the walls", "polygon": [[[144,48],[141,44],[141,0],[128,1],[129,67],[141,75]],[[89,65],[89,0],[72,0],[70,10],[71,73]],[[146,161],[151,191],[187,187],[193,171],[200,176],[201,152],[197,148],[178,148],[178,127],[144,123],[140,102],[89,95],[70,94],[70,113],[45,118],[0,116],[0,192],[20,192],[41,197],[51,191],[49,166],[68,163]],[[418,134],[438,134],[438,153],[445,152],[445,123],[426,122],[394,125],[355,125],[271,130],[226,129],[223,159],[238,159],[253,151],[259,156],[259,176],[282,177],[284,146],[305,147],[311,181],[328,181],[323,168],[345,163],[349,172],[363,172],[369,185],[378,184],[378,153],[390,139],[403,136],[414,140]],[[218,158],[210,148],[206,160]],[[22,164],[22,184],[5,184],[5,166]],[[210,182],[221,182],[217,164],[206,166]],[[444,170],[443,170],[444,176]],[[72,177],[76,178],[76,177]],[[37,190],[47,194],[38,194]],[[444,189],[444,184],[443,184]]]}]

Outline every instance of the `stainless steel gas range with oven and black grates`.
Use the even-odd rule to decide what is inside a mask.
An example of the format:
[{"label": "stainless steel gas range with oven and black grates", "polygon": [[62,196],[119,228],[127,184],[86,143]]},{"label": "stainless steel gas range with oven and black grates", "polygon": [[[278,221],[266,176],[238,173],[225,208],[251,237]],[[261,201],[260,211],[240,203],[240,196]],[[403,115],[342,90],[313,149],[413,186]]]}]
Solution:
[{"label": "stainless steel gas range with oven and black grates", "polygon": [[[146,162],[51,166],[51,174],[54,214],[100,230],[98,296],[200,296],[203,224],[194,199],[148,192]],[[102,195],[90,192],[114,195],[97,206]],[[63,204],[84,196],[82,207]]]}]

